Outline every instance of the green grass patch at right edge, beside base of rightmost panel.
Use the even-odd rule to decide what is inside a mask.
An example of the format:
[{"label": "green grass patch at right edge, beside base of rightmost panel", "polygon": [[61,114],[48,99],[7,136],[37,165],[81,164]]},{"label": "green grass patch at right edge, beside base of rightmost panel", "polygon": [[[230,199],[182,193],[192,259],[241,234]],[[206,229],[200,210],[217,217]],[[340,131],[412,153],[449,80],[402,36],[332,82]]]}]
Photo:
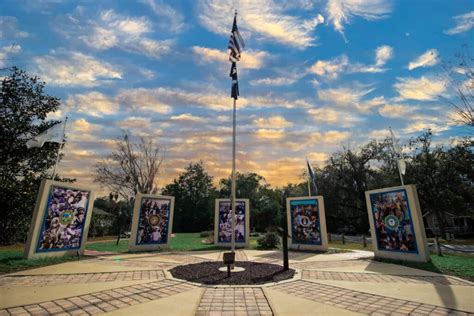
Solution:
[{"label": "green grass patch at right edge, beside base of rightmost panel", "polygon": [[474,281],[474,258],[468,255],[431,255],[431,262],[411,262],[377,258],[377,261],[394,263],[410,268],[457,276]]}]

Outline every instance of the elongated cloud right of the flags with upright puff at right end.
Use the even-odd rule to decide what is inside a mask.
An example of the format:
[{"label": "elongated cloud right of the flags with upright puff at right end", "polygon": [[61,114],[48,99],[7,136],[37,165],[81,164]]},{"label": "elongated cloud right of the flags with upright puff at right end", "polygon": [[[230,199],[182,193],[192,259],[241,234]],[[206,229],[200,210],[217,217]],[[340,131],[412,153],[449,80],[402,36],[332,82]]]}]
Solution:
[{"label": "elongated cloud right of the flags with upright puff at right end", "polygon": [[334,80],[340,74],[350,73],[378,73],[385,72],[387,69],[381,68],[388,60],[393,57],[393,48],[388,45],[379,46],[375,49],[375,61],[373,65],[364,65],[361,63],[350,63],[347,55],[343,54],[334,57],[331,60],[318,60],[309,69],[308,72],[314,73],[327,80]]}]

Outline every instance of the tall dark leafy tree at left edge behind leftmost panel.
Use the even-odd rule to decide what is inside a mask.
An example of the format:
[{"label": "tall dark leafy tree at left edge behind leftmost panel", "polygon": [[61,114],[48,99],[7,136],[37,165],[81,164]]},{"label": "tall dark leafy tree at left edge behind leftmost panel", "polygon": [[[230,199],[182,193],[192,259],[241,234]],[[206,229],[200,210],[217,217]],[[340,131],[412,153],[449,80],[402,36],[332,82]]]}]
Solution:
[{"label": "tall dark leafy tree at left edge behind leftmost panel", "polygon": [[25,239],[40,182],[57,157],[57,143],[26,148],[28,139],[59,123],[46,120],[60,103],[44,87],[15,67],[0,83],[0,243]]}]

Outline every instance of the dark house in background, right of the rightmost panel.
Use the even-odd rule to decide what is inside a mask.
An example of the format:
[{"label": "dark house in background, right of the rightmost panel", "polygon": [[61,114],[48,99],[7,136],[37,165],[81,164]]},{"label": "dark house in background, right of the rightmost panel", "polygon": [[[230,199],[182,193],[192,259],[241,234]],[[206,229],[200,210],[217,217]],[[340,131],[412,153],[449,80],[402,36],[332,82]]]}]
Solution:
[{"label": "dark house in background, right of the rightmost panel", "polygon": [[[445,213],[444,231],[455,236],[473,236],[474,235],[474,216],[473,215],[454,215]],[[438,219],[434,212],[426,212],[423,215],[426,236],[441,236]],[[444,236],[443,236],[444,237]]]}]

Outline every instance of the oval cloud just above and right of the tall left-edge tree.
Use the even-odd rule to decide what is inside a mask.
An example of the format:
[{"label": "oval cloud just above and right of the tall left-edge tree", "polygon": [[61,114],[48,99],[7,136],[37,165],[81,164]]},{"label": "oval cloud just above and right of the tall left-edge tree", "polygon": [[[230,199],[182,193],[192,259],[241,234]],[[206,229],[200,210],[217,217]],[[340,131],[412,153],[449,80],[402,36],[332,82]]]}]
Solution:
[{"label": "oval cloud just above and right of the tall left-edge tree", "polygon": [[94,87],[122,79],[118,67],[79,52],[52,52],[33,58],[36,72],[48,84]]}]

